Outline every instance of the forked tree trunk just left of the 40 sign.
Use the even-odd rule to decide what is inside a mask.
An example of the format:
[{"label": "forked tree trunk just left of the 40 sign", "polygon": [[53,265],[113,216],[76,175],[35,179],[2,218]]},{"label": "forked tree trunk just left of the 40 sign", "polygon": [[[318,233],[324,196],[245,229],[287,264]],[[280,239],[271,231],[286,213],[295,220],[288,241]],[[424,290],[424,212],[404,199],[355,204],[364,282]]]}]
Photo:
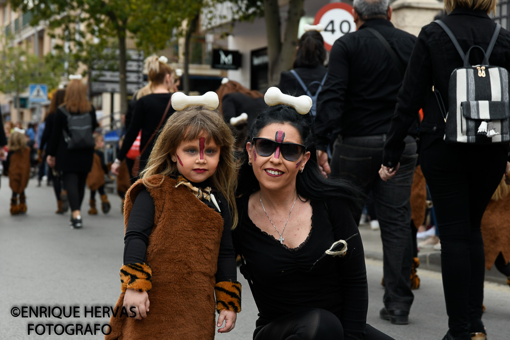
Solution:
[{"label": "forked tree trunk just left of the 40 sign", "polygon": [[[267,6],[267,7],[266,7]],[[284,40],[281,39],[281,23],[277,0],[264,0],[269,59],[268,84],[276,86],[282,71],[292,68],[296,54],[299,20],[303,14],[304,0],[290,0]],[[275,41],[278,39],[278,41]]]}]

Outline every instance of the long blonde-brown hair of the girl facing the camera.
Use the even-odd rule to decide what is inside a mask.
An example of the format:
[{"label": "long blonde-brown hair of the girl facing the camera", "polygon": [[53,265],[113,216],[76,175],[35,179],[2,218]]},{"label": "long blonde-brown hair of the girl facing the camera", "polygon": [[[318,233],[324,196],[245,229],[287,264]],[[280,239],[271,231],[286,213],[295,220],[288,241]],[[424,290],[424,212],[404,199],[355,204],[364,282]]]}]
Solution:
[{"label": "long blonde-brown hair of the girl facing the camera", "polygon": [[172,162],[170,155],[176,152],[181,141],[196,139],[202,132],[207,134],[208,140],[212,138],[220,146],[220,160],[216,172],[210,177],[211,184],[227,200],[232,211],[232,229],[235,229],[238,215],[235,199],[237,165],[234,160],[234,136],[219,113],[201,106],[192,106],[173,113],[156,139],[147,165],[141,173],[143,183],[151,187],[146,179],[153,175],[178,176],[177,164]]}]

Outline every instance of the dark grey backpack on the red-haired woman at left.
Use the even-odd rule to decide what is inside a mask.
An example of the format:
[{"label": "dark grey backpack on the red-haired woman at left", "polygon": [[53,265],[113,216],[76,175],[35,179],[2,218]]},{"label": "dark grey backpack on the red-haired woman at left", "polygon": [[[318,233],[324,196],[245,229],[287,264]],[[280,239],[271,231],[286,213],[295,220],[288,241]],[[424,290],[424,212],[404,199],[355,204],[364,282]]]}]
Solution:
[{"label": "dark grey backpack on the red-haired woman at left", "polygon": [[67,143],[67,150],[94,148],[95,140],[92,131],[92,117],[90,114],[88,112],[84,114],[70,114],[64,106],[61,106],[60,110],[67,117],[69,133],[62,130],[64,140]]}]

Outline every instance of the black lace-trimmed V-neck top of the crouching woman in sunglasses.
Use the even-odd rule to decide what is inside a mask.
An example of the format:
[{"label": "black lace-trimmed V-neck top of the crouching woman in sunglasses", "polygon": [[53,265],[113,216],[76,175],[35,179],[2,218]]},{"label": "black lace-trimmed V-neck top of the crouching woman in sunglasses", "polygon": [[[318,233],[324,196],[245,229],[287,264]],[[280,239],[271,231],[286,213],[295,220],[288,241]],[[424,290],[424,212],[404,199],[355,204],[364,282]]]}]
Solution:
[{"label": "black lace-trimmed V-neck top of the crouching woman in sunglasses", "polygon": [[[367,272],[363,243],[349,205],[340,199],[326,199],[326,204],[311,201],[310,234],[298,248],[290,249],[253,224],[248,201],[245,196],[237,202],[240,220],[234,245],[244,256],[253,283],[257,326],[295,311],[322,308],[337,315],[344,339],[363,339]],[[324,256],[314,265],[335,241],[351,236],[345,257]]]}]

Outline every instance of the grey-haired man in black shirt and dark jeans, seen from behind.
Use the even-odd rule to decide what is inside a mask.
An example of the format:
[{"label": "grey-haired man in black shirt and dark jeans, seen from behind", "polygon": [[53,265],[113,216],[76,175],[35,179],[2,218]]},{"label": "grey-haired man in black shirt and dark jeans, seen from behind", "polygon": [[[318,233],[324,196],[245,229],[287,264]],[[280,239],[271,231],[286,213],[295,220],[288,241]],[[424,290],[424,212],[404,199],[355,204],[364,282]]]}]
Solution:
[{"label": "grey-haired man in black shirt and dark jeans, seen from behind", "polygon": [[[416,37],[392,25],[389,0],[354,0],[353,6],[358,31],[339,38],[331,48],[328,76],[318,98],[316,132],[320,150],[326,149],[331,133],[338,135],[331,176],[348,177],[365,193],[373,193],[384,250],[385,308],[380,317],[407,324],[414,299],[409,200],[417,159],[416,126],[407,136],[399,177],[383,182],[378,171]],[[319,157],[327,163],[324,152]],[[361,211],[356,221],[360,215]]]}]

